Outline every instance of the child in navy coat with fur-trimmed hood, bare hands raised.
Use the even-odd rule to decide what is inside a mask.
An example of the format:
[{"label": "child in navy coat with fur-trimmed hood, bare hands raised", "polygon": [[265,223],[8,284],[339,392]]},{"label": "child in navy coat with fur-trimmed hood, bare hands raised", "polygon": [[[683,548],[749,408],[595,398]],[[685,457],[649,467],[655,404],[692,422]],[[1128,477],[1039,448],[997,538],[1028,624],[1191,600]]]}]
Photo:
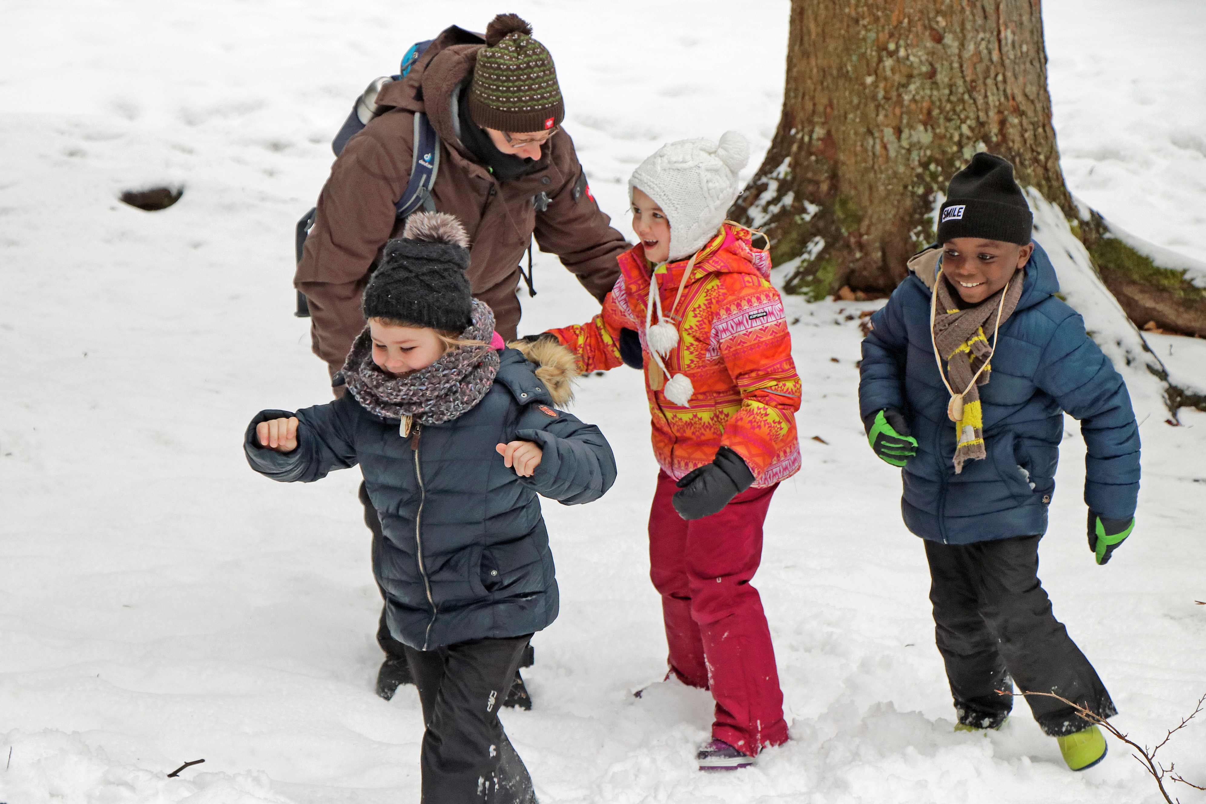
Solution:
[{"label": "child in navy coat with fur-trimmed hood, bare hands raised", "polygon": [[472,297],[467,246],[455,217],[412,215],[364,289],[369,325],[340,372],[349,393],[262,411],[244,448],[283,482],[361,466],[384,535],[373,571],[427,727],[422,802],[534,804],[498,710],[533,632],[557,616],[537,495],[596,500],[615,458],[597,427],[554,407],[573,354],[504,348]]}]

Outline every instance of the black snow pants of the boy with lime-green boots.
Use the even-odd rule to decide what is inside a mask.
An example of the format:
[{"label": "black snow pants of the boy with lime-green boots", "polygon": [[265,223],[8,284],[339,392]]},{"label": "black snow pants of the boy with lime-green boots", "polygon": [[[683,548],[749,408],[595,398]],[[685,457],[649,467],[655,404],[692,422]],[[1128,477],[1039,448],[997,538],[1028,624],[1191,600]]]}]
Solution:
[{"label": "black snow pants of the boy with lime-green boots", "polygon": [[[1055,620],[1038,581],[1038,540],[1014,536],[971,545],[925,541],[938,652],[947,665],[959,722],[1000,726],[1012,692],[1054,692],[1101,717],[1118,714],[1096,670]],[[1043,732],[1072,734],[1090,724],[1054,698],[1028,696]]]}]

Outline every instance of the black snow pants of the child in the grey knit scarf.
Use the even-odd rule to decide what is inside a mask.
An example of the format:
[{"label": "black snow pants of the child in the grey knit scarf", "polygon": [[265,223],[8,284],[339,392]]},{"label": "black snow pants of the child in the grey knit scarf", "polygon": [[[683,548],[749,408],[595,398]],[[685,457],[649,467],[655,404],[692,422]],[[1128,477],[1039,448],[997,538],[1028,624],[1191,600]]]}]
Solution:
[{"label": "black snow pants of the child in the grey knit scarf", "polygon": [[403,646],[423,705],[422,804],[535,804],[498,710],[532,634]]}]

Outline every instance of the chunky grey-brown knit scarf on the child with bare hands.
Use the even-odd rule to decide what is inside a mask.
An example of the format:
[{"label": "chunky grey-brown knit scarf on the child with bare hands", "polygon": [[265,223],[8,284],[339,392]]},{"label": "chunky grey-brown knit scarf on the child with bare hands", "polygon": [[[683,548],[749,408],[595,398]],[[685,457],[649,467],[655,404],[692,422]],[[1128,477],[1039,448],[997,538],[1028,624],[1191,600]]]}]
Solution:
[{"label": "chunky grey-brown knit scarf on the child with bare hands", "polygon": [[472,410],[494,385],[499,358],[490,347],[493,331],[494,313],[474,299],[473,323],[459,338],[484,345],[450,350],[426,369],[399,376],[373,362],[373,339],[365,327],[347,353],[344,381],[361,406],[377,416],[402,419],[406,433],[411,418],[422,424],[447,422]]}]

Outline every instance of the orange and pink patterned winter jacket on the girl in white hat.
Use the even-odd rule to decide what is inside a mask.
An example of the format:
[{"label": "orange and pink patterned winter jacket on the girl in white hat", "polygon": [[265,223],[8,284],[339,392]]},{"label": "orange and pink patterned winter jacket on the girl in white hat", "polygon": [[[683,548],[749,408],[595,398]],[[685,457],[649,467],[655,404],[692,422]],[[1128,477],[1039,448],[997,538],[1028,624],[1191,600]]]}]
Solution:
[{"label": "orange and pink patterned winter jacket on the girl in white hat", "polygon": [[[666,358],[669,375],[685,374],[695,388],[686,407],[649,387],[654,365],[645,339],[650,266],[644,246],[619,258],[620,278],[587,324],[550,330],[584,371],[622,365],[620,329],[640,335],[645,391],[652,413],[657,463],[671,477],[712,463],[727,446],[754,473],[754,486],[773,486],[800,470],[796,411],[800,376],[783,300],[771,284],[771,257],[750,234],[725,224],[696,258],[678,310],[671,312],[687,260],[658,268],[662,310],[679,318],[679,345]],[[652,323],[657,323],[654,313]]]}]

